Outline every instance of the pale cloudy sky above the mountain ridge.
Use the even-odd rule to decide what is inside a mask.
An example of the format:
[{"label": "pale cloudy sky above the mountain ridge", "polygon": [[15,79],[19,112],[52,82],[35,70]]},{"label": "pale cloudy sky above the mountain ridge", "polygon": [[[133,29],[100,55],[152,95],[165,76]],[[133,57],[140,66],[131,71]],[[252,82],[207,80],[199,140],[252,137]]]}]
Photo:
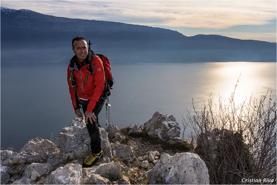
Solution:
[{"label": "pale cloudy sky above the mountain ridge", "polygon": [[0,1],[1,7],[58,17],[160,27],[276,42],[277,1]]}]

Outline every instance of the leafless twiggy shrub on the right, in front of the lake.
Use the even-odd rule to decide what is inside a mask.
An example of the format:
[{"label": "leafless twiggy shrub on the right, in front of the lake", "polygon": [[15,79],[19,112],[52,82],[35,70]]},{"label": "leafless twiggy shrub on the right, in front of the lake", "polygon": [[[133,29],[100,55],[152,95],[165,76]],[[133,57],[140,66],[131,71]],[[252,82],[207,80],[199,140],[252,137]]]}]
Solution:
[{"label": "leafless twiggy shrub on the right, in front of the lake", "polygon": [[210,96],[200,112],[193,105],[194,112],[183,118],[196,153],[208,167],[210,184],[276,184],[276,100],[267,93],[236,105],[235,90],[227,103],[220,97],[213,105]]}]

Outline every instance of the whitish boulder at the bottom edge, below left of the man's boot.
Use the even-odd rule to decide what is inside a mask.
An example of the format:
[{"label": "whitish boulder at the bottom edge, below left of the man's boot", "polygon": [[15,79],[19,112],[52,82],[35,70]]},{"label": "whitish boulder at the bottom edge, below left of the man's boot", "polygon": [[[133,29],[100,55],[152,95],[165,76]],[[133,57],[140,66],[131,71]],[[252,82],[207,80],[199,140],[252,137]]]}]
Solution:
[{"label": "whitish boulder at the bottom edge, below left of the man's boot", "polygon": [[82,179],[82,166],[71,163],[52,171],[44,184],[81,184]]}]

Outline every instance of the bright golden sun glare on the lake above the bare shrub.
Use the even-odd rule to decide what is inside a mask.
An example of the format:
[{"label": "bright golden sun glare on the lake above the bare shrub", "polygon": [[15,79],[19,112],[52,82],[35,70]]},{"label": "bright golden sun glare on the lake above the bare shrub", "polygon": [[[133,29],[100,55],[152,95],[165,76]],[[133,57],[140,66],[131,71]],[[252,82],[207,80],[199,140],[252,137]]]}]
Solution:
[{"label": "bright golden sun glare on the lake above the bare shrub", "polygon": [[[264,78],[265,75],[261,71],[266,71],[261,70],[261,68],[263,68],[261,64],[262,63],[250,64],[247,62],[218,63],[217,68],[213,71],[213,75],[211,76],[211,82],[215,83],[214,92],[217,92],[217,95],[227,99],[231,96],[231,93],[234,92],[235,85],[238,81],[238,86],[234,95],[236,104],[242,103],[246,98],[249,99],[251,96],[260,98],[257,96],[261,94],[265,95],[267,90],[275,91],[273,92],[273,96],[276,98],[276,84],[274,85],[260,80],[260,78]],[[272,76],[272,78],[273,77],[274,76]],[[276,78],[276,72],[274,78]]]}]

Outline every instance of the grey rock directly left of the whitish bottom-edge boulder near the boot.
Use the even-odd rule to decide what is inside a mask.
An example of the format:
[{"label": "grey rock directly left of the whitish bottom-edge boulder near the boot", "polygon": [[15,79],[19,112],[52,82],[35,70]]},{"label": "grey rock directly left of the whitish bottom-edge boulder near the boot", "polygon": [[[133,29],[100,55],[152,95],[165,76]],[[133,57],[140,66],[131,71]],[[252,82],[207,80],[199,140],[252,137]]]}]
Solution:
[{"label": "grey rock directly left of the whitish bottom-edge boulder near the boot", "polygon": [[22,174],[22,178],[30,178],[31,180],[35,180],[41,175],[48,174],[50,172],[50,164],[45,163],[32,163],[31,165],[27,166]]}]

